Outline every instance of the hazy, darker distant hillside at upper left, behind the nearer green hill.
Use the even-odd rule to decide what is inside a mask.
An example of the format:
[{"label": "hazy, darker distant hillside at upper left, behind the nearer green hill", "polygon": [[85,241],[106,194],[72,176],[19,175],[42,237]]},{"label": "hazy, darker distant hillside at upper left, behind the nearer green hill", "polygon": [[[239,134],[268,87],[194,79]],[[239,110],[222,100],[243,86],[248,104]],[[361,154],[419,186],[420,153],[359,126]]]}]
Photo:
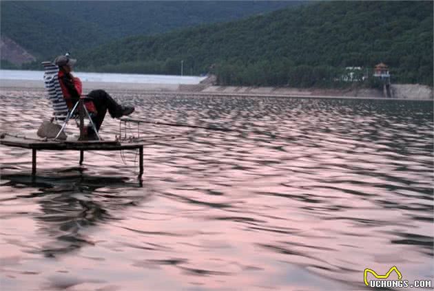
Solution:
[{"label": "hazy, darker distant hillside at upper left, behind the nearer green hill", "polygon": [[0,1],[1,35],[52,58],[136,34],[239,19],[288,1]]}]

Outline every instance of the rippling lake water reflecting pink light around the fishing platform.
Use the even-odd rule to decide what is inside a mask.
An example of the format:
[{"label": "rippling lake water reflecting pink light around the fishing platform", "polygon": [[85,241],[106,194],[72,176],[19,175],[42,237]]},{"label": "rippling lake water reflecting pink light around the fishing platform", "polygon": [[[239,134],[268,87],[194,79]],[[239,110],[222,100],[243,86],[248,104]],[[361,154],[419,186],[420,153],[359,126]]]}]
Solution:
[{"label": "rippling lake water reflecting pink light around the fishing platform", "polygon": [[[1,129],[36,131],[43,95],[1,91]],[[42,151],[32,181],[31,151],[0,146],[2,291],[369,290],[364,269],[392,266],[433,277],[431,102],[115,97],[136,118],[233,131],[141,126],[142,181],[133,151],[85,153],[82,167]],[[118,127],[106,116],[101,134]]]}]

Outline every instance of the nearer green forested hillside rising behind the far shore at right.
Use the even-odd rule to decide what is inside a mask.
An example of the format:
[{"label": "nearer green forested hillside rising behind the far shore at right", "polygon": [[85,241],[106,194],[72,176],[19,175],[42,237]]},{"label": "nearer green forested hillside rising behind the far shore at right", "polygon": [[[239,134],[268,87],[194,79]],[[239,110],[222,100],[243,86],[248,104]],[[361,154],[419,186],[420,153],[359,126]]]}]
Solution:
[{"label": "nearer green forested hillside rising behind the far shore at right", "polygon": [[[80,69],[214,72],[220,84],[332,86],[344,67],[389,65],[433,85],[433,1],[326,1],[249,19],[134,36],[78,54]],[[364,72],[364,71],[363,71]]]}]

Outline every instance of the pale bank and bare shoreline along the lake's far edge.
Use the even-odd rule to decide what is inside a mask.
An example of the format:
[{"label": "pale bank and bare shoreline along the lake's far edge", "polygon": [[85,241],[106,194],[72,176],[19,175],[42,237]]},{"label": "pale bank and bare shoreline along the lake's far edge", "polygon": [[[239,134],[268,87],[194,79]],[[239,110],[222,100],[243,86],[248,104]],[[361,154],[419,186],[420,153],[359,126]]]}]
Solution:
[{"label": "pale bank and bare shoreline along the lake's far edge", "polygon": [[[408,91],[401,98],[384,98],[378,89],[298,89],[285,87],[236,87],[214,85],[178,85],[149,83],[107,83],[83,82],[83,92],[105,89],[109,92],[143,94],[182,94],[194,96],[256,96],[256,97],[294,97],[294,98],[349,98],[376,100],[433,100],[433,90],[424,85],[395,85],[401,91]],[[403,86],[403,88],[399,88]],[[6,89],[33,89],[45,91],[42,80],[5,80],[0,79],[0,91]],[[431,90],[431,91],[430,91]],[[422,91],[422,93],[421,93]],[[402,94],[402,92],[400,93]],[[431,98],[429,98],[431,97]]]}]

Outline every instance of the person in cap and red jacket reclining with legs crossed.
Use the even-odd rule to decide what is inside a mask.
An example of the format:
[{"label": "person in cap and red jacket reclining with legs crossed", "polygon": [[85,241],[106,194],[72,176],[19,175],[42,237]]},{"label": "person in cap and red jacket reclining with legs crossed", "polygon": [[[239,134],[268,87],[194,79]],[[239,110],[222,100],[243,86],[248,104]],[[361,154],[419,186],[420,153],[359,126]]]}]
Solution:
[{"label": "person in cap and red jacket reclining with legs crossed", "polygon": [[[70,58],[69,54],[66,54],[65,56],[56,57],[54,63],[59,67],[59,83],[66,105],[69,109],[72,109],[82,94],[81,80],[71,74],[76,59]],[[102,89],[90,91],[87,97],[92,101],[86,100],[85,107],[91,114],[92,122],[94,122],[97,131],[99,131],[103,123],[107,110],[112,118],[121,118],[134,112],[134,107],[118,104],[112,96]],[[85,128],[85,131],[87,132],[87,138],[96,138],[92,127]]]}]

